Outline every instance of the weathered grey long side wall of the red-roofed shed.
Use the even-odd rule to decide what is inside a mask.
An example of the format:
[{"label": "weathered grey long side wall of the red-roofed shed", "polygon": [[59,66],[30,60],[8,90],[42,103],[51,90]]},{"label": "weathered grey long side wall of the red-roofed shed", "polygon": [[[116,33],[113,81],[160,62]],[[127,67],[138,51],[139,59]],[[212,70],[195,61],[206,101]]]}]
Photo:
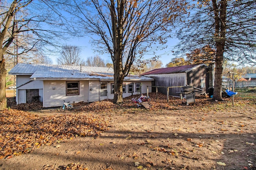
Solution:
[{"label": "weathered grey long side wall of the red-roofed shed", "polygon": [[177,94],[176,92],[180,91],[180,87],[176,87],[176,86],[186,85],[186,73],[147,75],[147,77],[151,77],[155,79],[154,83],[156,86],[164,86],[164,87],[158,87],[158,92],[162,94],[167,94],[166,87],[174,87],[174,88],[169,88],[169,95],[179,96],[179,94]]}]

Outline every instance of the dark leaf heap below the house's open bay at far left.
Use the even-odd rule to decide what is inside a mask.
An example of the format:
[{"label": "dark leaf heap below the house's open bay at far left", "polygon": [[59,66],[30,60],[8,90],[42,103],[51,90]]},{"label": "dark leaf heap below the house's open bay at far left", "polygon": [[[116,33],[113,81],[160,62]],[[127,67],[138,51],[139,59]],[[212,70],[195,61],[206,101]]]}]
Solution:
[{"label": "dark leaf heap below the house's open bay at far left", "polygon": [[20,103],[18,105],[13,105],[11,108],[21,110],[21,111],[36,111],[36,110],[43,109],[43,103],[40,101],[34,101],[32,103]]}]

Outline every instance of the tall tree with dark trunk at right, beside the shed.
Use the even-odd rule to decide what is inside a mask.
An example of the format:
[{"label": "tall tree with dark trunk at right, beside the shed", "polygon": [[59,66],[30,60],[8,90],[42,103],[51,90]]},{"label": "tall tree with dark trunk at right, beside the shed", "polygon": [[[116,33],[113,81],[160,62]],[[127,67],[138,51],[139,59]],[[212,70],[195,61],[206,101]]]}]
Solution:
[{"label": "tall tree with dark trunk at right, beside the shed", "polygon": [[[194,2],[194,1],[193,1]],[[180,29],[180,51],[214,49],[214,100],[222,100],[224,58],[240,63],[255,63],[255,0],[199,0],[194,4],[186,26]]]}]

